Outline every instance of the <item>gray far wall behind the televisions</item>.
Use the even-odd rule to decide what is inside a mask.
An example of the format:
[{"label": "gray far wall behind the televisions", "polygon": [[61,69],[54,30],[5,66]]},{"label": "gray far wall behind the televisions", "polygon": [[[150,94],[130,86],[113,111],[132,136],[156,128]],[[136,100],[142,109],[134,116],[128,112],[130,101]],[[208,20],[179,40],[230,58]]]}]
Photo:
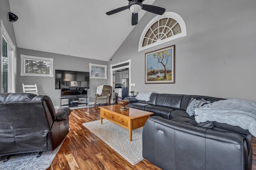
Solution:
[{"label": "gray far wall behind the televisions", "polygon": [[[81,57],[74,57],[68,55],[60,55],[55,53],[47,53],[43,51],[35,51],[30,49],[18,48],[17,56],[17,82],[16,92],[23,92],[22,83],[37,84],[39,95],[50,96],[54,106],[59,105],[60,90],[55,90],[55,77],[38,77],[38,76],[20,76],[20,54],[46,57],[54,59],[54,70],[74,70],[89,72],[89,63],[107,65],[106,61],[99,61],[94,59],[86,59]],[[54,72],[55,74],[55,72]],[[94,94],[96,94],[97,86],[107,84],[108,80],[104,79],[90,79],[90,89],[88,89],[89,102],[94,102]]]}]

